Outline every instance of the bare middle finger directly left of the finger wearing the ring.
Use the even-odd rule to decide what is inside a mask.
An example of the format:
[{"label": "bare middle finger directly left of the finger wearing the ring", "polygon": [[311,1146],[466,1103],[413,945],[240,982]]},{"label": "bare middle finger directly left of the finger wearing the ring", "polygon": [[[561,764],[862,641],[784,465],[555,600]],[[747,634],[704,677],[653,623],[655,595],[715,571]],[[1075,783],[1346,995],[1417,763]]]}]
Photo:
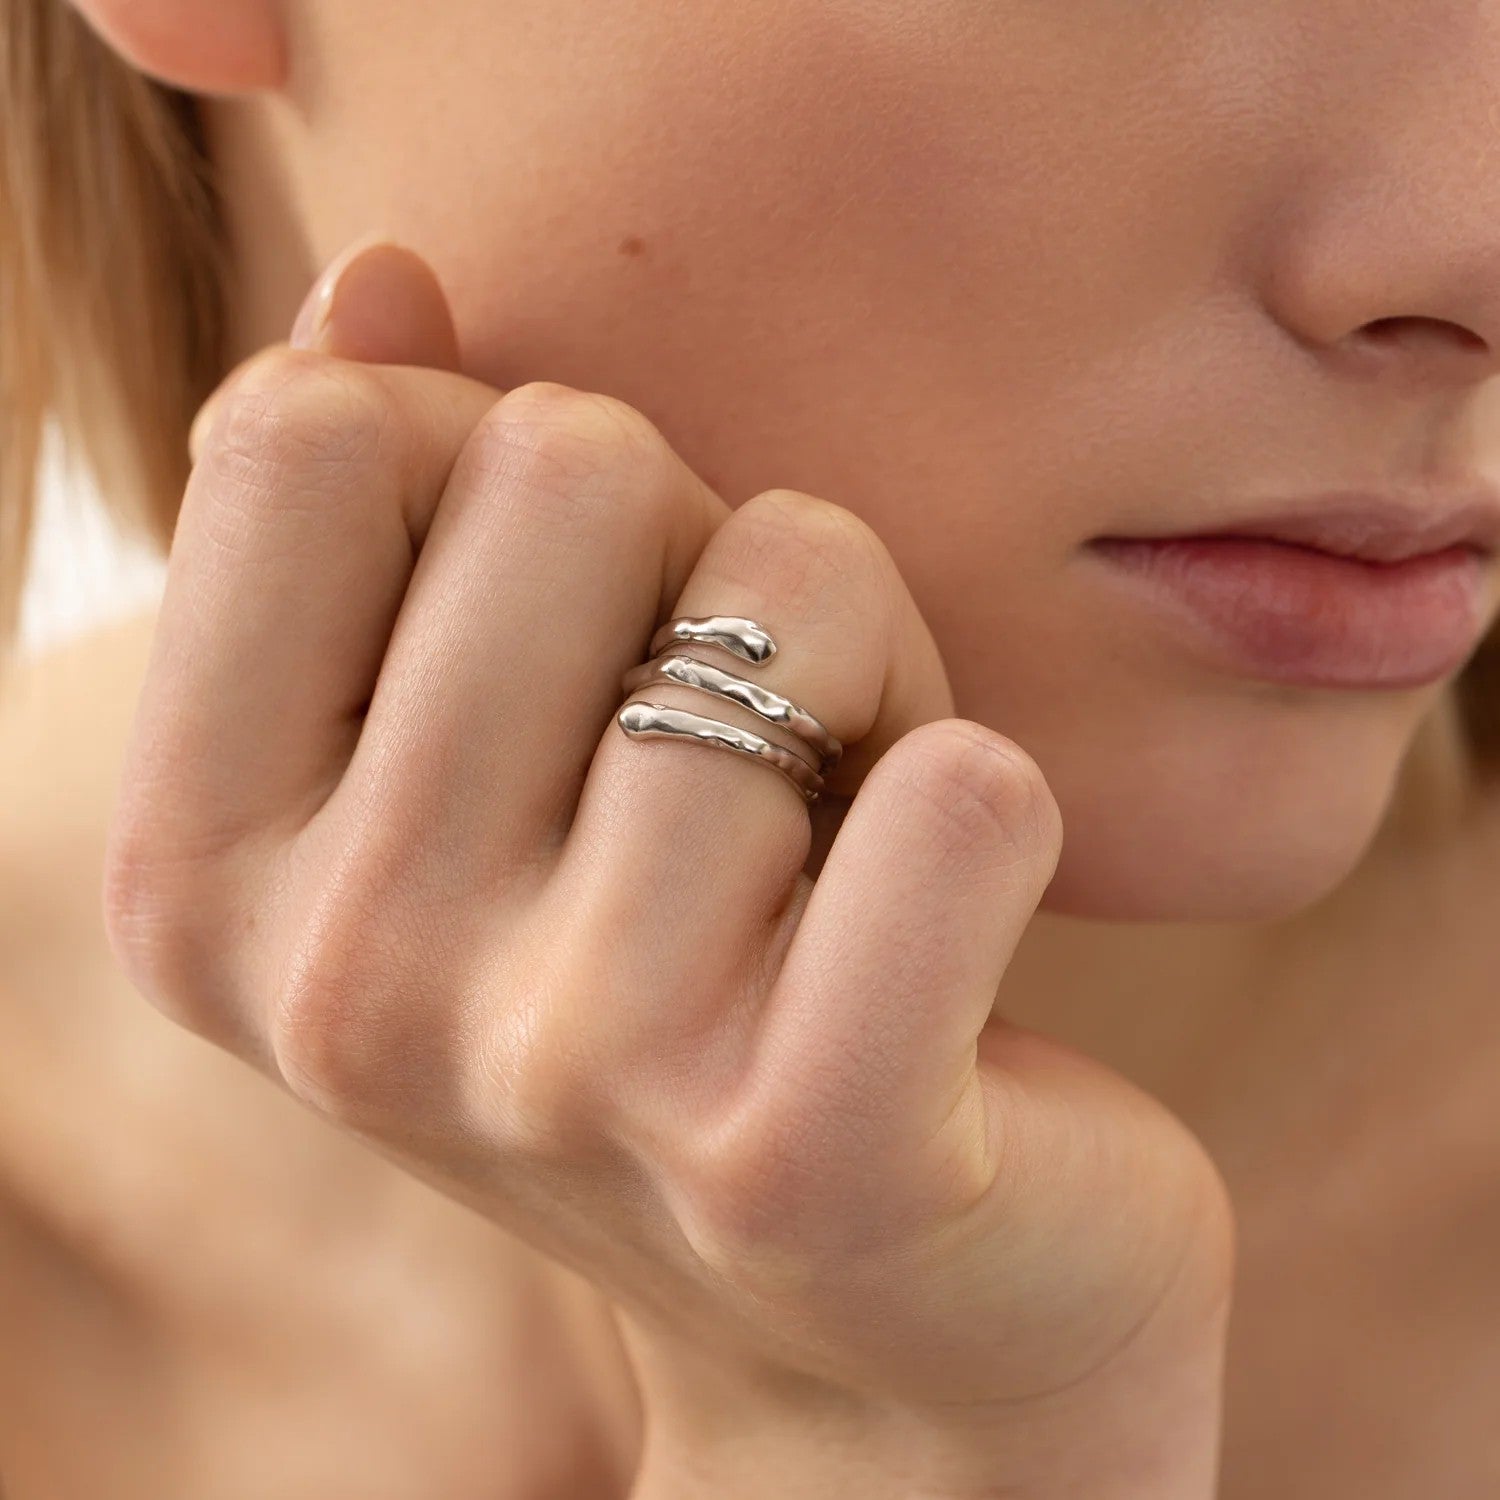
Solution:
[{"label": "bare middle finger directly left of the finger wearing the ring", "polygon": [[[662,610],[729,507],[634,408],[518,386],[453,466],[392,632],[330,837],[388,873],[496,890],[561,842]],[[330,804],[332,806],[332,804]]]}]

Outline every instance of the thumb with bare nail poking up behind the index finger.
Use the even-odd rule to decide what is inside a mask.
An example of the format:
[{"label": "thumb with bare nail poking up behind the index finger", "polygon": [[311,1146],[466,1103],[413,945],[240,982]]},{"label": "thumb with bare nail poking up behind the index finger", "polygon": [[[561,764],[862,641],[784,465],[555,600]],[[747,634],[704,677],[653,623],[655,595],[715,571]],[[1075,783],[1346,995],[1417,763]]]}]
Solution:
[{"label": "thumb with bare nail poking up behind the index finger", "polygon": [[[382,234],[362,236],[324,267],[297,309],[288,342],[364,364],[454,372],[460,364],[453,314],[436,273],[416,250]],[[188,434],[194,462],[220,393],[246,363],[236,364],[198,408]]]}]

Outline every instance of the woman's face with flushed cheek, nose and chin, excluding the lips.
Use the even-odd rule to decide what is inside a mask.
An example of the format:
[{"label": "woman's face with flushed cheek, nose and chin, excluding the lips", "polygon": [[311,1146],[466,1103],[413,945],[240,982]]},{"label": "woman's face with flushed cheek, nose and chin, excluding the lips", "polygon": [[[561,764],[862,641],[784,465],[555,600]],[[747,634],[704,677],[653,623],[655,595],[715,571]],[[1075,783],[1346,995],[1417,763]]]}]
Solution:
[{"label": "woman's face with flushed cheek, nose and chin, excluding the lips", "polygon": [[[864,516],[958,712],[1047,774],[1047,904],[1275,915],[1350,868],[1448,678],[1266,680],[1089,542],[1500,472],[1492,4],[291,24],[268,118],[314,260],[382,228],[438,267],[472,374],[632,402],[730,504]],[[1496,598],[1486,573],[1484,620]]]}]

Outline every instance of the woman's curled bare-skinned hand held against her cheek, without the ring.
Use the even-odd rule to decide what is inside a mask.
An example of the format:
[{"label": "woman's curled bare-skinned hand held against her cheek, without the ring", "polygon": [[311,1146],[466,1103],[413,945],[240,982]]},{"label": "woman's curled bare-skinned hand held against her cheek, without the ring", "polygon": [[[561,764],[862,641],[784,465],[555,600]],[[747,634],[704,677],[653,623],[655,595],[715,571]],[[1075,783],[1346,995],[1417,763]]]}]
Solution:
[{"label": "woman's curled bare-skinned hand held against her cheek, without the ring", "polygon": [[[140,988],[614,1296],[652,1473],[816,1422],[927,1492],[1209,1494],[1222,1185],[992,1014],[1060,818],[874,534],[458,374],[408,252],[309,309],[196,432],[106,854]],[[816,879],[778,774],[615,724],[706,614],[849,746]]]}]

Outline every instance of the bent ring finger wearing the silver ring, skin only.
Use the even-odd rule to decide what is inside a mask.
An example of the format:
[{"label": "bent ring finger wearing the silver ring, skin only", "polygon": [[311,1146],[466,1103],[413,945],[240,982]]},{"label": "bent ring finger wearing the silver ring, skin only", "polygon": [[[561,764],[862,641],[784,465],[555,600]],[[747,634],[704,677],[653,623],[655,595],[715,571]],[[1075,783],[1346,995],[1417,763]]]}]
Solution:
[{"label": "bent ring finger wearing the silver ring, skin only", "polygon": [[[672,615],[744,616],[771,633],[776,651],[759,664],[696,642],[668,650],[789,699],[850,746],[830,789],[852,788],[908,729],[952,711],[938,648],[885,546],[850,512],[798,490],[735,510]],[[716,693],[657,681],[628,698],[818,760],[798,735]],[[628,1006],[606,1006],[615,1044],[630,1050],[622,1030],[648,1048],[702,1040],[796,894],[810,836],[802,794],[772,765],[694,738],[634,738],[610,720],[554,894],[574,922],[614,934],[621,972],[646,981]]]}]

